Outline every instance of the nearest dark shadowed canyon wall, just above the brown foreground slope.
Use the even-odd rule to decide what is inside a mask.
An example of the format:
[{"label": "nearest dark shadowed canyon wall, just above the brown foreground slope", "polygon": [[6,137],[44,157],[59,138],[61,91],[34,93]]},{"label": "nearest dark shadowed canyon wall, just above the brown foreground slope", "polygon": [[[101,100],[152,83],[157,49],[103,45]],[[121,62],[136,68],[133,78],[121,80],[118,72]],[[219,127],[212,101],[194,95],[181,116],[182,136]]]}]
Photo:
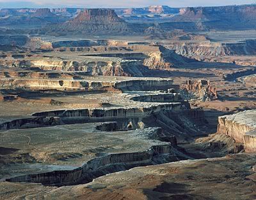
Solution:
[{"label": "nearest dark shadowed canyon wall, just above the brown foreground slope", "polygon": [[[80,168],[70,171],[52,171],[49,173],[17,176],[7,181],[42,183],[43,185],[51,186],[77,185],[91,182],[93,178],[116,171],[124,171],[154,163],[161,164],[163,161],[177,161],[175,155],[182,159],[182,154],[179,155],[179,152],[172,145],[152,146],[152,148],[145,152],[111,154],[95,158],[86,162]],[[186,155],[183,156],[186,157]],[[161,159],[159,159],[160,157]]]}]

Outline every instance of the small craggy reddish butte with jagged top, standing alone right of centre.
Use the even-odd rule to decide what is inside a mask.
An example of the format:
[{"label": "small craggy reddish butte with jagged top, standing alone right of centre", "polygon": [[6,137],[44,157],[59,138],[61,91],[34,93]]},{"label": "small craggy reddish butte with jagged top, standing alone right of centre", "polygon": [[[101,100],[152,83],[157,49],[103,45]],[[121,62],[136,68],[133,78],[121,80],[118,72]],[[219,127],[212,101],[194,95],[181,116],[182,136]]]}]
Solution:
[{"label": "small craggy reddish butte with jagged top, standing alone right of centre", "polygon": [[181,85],[180,93],[184,99],[200,99],[202,101],[211,101],[218,99],[218,94],[215,87],[212,87],[208,80],[191,81],[188,80],[186,84]]}]

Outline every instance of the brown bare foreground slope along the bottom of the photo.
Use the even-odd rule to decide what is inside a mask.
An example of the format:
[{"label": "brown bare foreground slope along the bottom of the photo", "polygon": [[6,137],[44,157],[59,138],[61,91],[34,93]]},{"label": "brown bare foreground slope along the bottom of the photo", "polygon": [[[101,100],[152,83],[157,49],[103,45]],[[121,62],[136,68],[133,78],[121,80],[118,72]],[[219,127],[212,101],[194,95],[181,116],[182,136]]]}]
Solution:
[{"label": "brown bare foreground slope along the bottom of the photo", "polygon": [[254,199],[255,159],[253,154],[236,154],[172,162],[113,173],[70,187],[8,182],[0,183],[0,187],[4,199]]}]

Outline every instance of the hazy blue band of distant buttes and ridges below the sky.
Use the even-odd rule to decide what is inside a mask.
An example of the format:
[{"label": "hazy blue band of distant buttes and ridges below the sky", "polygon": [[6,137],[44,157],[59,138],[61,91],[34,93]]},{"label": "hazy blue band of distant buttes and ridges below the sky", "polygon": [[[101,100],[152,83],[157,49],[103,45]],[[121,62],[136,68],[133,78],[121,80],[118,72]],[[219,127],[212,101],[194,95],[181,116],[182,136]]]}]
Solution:
[{"label": "hazy blue band of distant buttes and ridges below the sky", "polygon": [[[145,8],[111,9],[1,9],[1,25],[33,25],[56,34],[124,32],[145,34],[152,30],[207,31],[256,29],[256,4],[239,6],[212,6],[170,8],[148,6]],[[46,27],[44,27],[46,25]],[[151,30],[151,31],[150,31]],[[43,32],[44,32],[43,31]],[[58,32],[60,31],[60,32]]]}]

